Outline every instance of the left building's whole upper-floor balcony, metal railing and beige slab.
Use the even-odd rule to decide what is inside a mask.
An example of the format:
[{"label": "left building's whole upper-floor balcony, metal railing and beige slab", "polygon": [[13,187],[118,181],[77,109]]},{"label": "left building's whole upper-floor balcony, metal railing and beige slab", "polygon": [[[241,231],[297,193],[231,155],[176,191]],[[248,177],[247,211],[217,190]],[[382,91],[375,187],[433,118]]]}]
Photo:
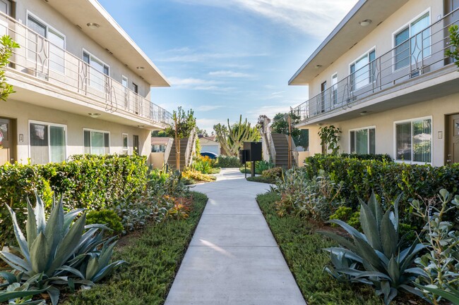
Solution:
[{"label": "left building's whole upper-floor balcony, metal railing and beige slab", "polygon": [[[42,101],[43,98],[33,96],[36,92],[29,85],[35,85],[37,92],[54,91],[73,101],[72,105],[49,99],[49,104],[41,103],[42,106],[59,105],[61,110],[86,114],[95,112],[88,109],[96,109],[105,111],[110,115],[107,117],[119,123],[127,119],[133,125],[160,129],[172,123],[171,113],[106,75],[103,66],[91,66],[3,13],[0,13],[0,35],[10,35],[20,44],[7,68],[8,79],[18,91],[15,99],[23,96],[28,102]],[[27,90],[21,95],[23,87]]]}]

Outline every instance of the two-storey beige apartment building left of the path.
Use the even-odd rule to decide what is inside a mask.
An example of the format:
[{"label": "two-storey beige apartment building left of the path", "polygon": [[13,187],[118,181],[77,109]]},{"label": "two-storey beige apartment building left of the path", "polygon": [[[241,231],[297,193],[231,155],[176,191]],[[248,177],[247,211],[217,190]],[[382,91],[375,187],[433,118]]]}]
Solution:
[{"label": "two-storey beige apartment building left of the path", "polygon": [[6,68],[16,93],[0,102],[0,164],[150,156],[151,130],[170,123],[150,88],[169,82],[96,0],[0,0],[0,35],[20,44]]}]

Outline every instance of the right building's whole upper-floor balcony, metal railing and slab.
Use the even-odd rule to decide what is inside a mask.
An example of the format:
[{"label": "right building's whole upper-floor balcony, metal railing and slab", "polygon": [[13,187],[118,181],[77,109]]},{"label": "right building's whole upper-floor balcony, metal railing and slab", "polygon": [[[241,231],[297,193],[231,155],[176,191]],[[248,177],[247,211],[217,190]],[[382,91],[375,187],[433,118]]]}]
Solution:
[{"label": "right building's whole upper-floor balcony, metal railing and slab", "polygon": [[[451,48],[448,28],[459,24],[458,17],[459,10],[453,11],[417,35],[400,42],[386,54],[367,61],[366,65],[357,67],[356,63],[353,73],[292,109],[299,116],[300,125],[338,116],[349,119],[359,116],[359,113],[402,106],[397,98],[407,92],[412,94],[412,98],[405,99],[405,104],[459,92],[457,84],[451,86],[446,83],[449,78],[459,75],[440,82],[427,82],[442,75],[453,75],[452,72],[457,70],[445,53]],[[443,87],[441,82],[444,82]],[[424,83],[424,90],[415,87],[421,83]],[[435,92],[425,90],[429,84],[437,86]],[[419,92],[413,94],[416,90]]]}]

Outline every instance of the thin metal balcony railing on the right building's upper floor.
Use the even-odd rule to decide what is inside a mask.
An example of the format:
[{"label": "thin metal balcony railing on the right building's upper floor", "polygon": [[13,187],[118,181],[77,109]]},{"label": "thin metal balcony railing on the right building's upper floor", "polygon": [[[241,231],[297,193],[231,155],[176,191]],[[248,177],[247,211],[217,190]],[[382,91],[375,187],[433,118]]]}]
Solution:
[{"label": "thin metal balcony railing on the right building's upper floor", "polygon": [[459,24],[458,17],[459,9],[293,108],[293,113],[306,122],[324,113],[358,104],[372,94],[415,80],[425,73],[451,66],[452,59],[445,55],[446,50],[452,48],[448,28]]}]

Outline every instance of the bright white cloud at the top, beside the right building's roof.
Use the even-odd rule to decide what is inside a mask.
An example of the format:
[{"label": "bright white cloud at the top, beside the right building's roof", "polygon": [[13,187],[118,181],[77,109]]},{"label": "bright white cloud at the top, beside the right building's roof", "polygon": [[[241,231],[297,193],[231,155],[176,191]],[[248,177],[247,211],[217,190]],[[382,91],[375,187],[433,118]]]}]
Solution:
[{"label": "bright white cloud at the top, beside the right building's roof", "polygon": [[323,38],[357,0],[175,0],[184,4],[218,6],[256,15]]}]

